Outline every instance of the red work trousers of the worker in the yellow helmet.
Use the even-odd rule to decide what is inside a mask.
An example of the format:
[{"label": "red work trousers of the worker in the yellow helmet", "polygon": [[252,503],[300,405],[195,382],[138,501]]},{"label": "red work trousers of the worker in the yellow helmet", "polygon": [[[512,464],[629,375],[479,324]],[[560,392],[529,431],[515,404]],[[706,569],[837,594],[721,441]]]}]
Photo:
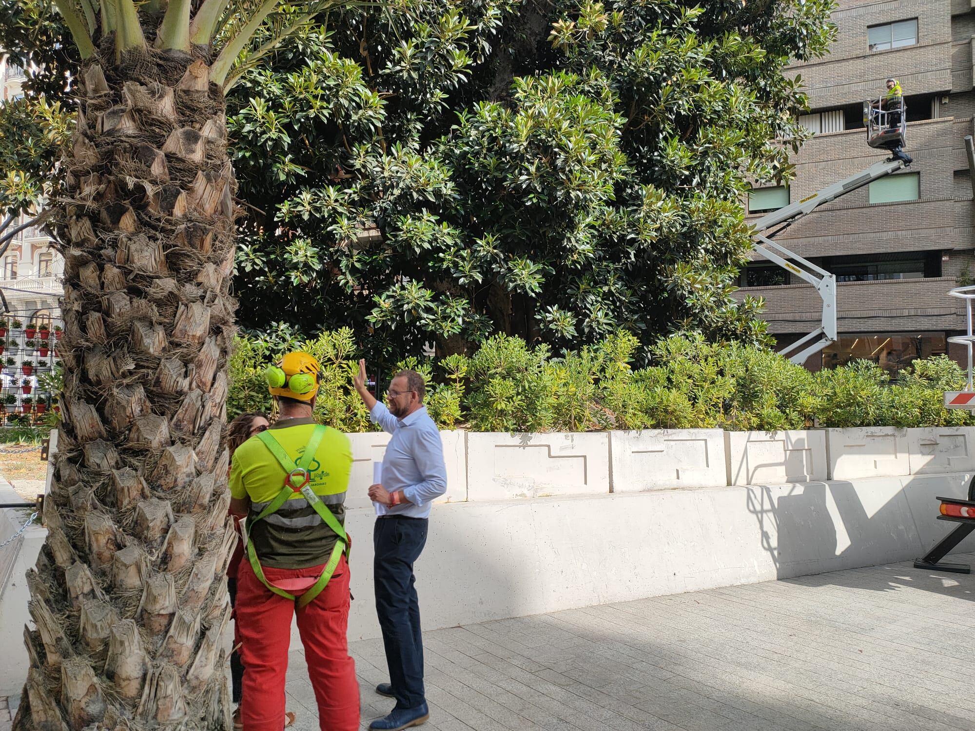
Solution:
[{"label": "red work trousers of the worker in the yellow helmet", "polygon": [[[323,567],[265,566],[264,576],[272,583],[299,577],[317,578]],[[359,683],[345,637],[349,621],[349,566],[344,557],[335,567],[328,586],[300,609],[292,599],[268,590],[254,575],[251,562],[242,560],[237,575],[235,613],[244,662],[241,703],[244,731],[282,731],[284,727],[285,674],[294,614],[318,702],[319,728],[321,731],[358,730]]]}]

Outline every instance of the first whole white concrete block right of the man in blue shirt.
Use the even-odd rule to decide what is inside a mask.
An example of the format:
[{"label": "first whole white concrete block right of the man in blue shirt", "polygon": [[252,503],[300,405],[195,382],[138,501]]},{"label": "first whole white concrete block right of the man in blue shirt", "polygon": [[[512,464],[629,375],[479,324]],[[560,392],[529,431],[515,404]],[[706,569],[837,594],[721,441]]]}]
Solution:
[{"label": "first whole white concrete block right of the man in blue shirt", "polygon": [[608,492],[606,432],[467,435],[468,500]]}]

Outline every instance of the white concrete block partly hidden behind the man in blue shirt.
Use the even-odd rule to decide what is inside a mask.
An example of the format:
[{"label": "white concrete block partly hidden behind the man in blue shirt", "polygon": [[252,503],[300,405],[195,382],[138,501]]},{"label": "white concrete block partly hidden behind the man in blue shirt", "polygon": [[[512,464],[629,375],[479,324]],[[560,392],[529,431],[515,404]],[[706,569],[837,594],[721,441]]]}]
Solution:
[{"label": "white concrete block partly hidden behind the man in blue shirt", "polygon": [[[347,436],[352,442],[352,474],[349,476],[349,492],[345,498],[345,507],[369,508],[372,503],[367,490],[372,484],[372,464],[382,461],[390,435],[385,432],[367,432]],[[440,438],[444,445],[444,462],[447,465],[447,493],[437,502],[462,502],[467,499],[465,433],[441,432]]]}]

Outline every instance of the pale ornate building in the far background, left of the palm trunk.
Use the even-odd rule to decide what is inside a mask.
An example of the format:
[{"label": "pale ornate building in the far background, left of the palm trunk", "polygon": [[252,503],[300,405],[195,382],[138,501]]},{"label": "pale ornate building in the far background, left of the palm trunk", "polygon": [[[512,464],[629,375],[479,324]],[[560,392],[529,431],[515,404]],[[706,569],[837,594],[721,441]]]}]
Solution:
[{"label": "pale ornate building in the far background, left of the palm trunk", "polygon": [[[0,104],[22,96],[23,80],[23,69],[0,51]],[[24,323],[59,319],[64,261],[51,244],[39,228],[31,226],[0,257],[0,289],[10,315]]]}]

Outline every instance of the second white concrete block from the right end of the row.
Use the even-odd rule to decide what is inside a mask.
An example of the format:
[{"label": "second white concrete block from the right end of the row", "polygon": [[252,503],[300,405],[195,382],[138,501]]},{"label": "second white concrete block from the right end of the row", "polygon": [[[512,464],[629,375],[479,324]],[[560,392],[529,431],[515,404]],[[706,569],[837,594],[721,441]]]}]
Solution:
[{"label": "second white concrete block from the right end of the row", "polygon": [[906,429],[858,427],[827,429],[830,480],[897,477],[911,474]]}]

